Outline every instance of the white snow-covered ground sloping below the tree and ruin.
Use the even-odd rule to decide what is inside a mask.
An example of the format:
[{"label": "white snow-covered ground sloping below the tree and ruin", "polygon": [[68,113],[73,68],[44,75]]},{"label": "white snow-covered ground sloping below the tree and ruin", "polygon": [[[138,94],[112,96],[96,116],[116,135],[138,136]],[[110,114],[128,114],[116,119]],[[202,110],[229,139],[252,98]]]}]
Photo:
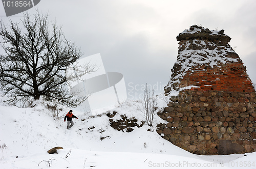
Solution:
[{"label": "white snow-covered ground sloping below the tree and ruin", "polygon": [[[117,131],[110,126],[105,114],[91,116],[74,109],[73,114],[79,119],[74,119],[74,126],[67,130],[67,122],[63,118],[54,120],[41,105],[0,108],[1,169],[256,168],[256,153],[226,156],[191,154],[161,138],[155,127],[134,127],[130,133]],[[144,119],[142,105],[138,101],[127,101],[115,110],[139,121]],[[156,116],[155,122],[161,122],[161,119]],[[101,140],[102,137],[105,139]],[[57,146],[63,149],[57,150],[56,154],[47,153]]]}]

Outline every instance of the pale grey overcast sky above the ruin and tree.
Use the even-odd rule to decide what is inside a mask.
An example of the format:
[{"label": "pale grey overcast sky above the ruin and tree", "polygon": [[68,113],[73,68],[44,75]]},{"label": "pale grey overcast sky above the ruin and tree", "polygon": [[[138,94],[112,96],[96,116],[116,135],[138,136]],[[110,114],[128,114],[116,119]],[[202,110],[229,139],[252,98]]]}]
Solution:
[{"label": "pale grey overcast sky above the ruin and tree", "polygon": [[[176,36],[193,24],[225,30],[256,82],[255,0],[42,0],[36,7],[49,12],[84,56],[100,53],[106,72],[122,73],[130,99],[145,83],[162,92],[177,59]],[[8,22],[23,15],[6,17],[1,4],[0,16]]]}]

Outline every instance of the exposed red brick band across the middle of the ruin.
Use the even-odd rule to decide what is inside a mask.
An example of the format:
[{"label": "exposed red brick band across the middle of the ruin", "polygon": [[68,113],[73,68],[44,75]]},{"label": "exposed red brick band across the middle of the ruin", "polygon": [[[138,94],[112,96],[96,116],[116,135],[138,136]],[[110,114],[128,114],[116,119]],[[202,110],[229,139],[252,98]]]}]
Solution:
[{"label": "exposed red brick band across the middle of the ruin", "polygon": [[194,71],[186,72],[180,87],[191,85],[200,87],[191,90],[199,91],[254,92],[242,61],[227,62],[222,67],[211,68],[204,65],[194,67]]}]

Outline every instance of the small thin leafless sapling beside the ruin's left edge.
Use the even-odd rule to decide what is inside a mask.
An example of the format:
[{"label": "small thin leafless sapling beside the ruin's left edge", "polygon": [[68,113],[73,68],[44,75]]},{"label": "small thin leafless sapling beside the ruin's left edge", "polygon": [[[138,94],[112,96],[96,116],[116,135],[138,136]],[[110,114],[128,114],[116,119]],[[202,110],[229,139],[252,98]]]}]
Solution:
[{"label": "small thin leafless sapling beside the ruin's left edge", "polygon": [[152,126],[154,121],[154,116],[156,114],[156,105],[157,98],[154,95],[154,89],[149,90],[146,84],[144,89],[144,98],[143,98],[143,110],[146,118],[146,123],[148,126]]}]

